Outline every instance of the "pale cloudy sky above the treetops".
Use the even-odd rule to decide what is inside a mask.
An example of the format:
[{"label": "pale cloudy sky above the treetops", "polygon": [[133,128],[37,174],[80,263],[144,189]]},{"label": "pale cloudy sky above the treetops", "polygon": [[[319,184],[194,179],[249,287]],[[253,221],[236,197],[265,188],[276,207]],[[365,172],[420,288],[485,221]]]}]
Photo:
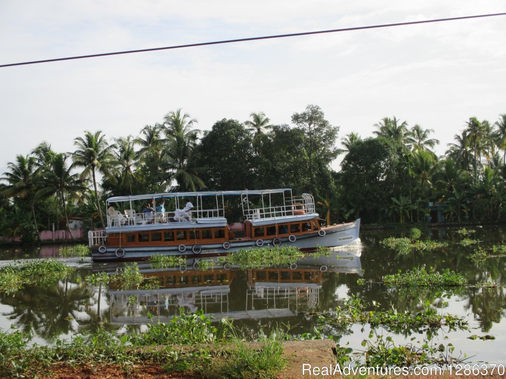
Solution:
[{"label": "pale cloudy sky above the treetops", "polygon": [[[506,12],[504,0],[0,0],[0,64],[186,43]],[[0,68],[0,173],[46,140],[137,136],[182,108],[201,130],[307,105],[373,135],[384,117],[446,144],[506,113],[506,16]],[[340,141],[338,141],[338,144]],[[339,169],[338,164],[333,167]]]}]

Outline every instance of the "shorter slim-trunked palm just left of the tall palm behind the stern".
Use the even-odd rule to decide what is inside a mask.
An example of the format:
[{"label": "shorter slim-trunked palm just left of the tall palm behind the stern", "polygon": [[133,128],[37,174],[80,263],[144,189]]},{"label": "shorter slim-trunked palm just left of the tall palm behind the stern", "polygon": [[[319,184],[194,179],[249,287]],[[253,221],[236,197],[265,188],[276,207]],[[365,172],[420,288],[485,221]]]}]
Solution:
[{"label": "shorter slim-trunked palm just left of the tall palm behind the stern", "polygon": [[86,187],[82,184],[78,174],[73,174],[72,170],[74,165],[68,165],[67,154],[56,154],[50,162],[48,168],[43,171],[42,180],[44,188],[40,190],[42,196],[59,196],[62,202],[63,214],[65,215],[65,222],[67,228],[72,236],[72,231],[69,227],[67,207],[65,196],[80,199],[82,193],[86,191]]}]

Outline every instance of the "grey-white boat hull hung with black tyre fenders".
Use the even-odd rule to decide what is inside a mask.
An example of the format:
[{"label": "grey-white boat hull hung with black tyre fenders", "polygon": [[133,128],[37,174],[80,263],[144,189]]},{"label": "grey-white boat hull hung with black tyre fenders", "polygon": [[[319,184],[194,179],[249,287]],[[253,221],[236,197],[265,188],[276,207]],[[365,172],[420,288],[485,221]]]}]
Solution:
[{"label": "grey-white boat hull hung with black tyre fenders", "polygon": [[[322,232],[322,230],[324,232]],[[359,239],[360,219],[340,225],[323,227],[321,230],[310,231],[304,234],[298,234],[295,241],[290,241],[289,236],[279,237],[281,246],[289,245],[302,251],[314,251],[321,247],[336,247],[354,243]],[[323,235],[322,235],[323,234]],[[291,236],[293,237],[293,236]],[[273,238],[263,239],[263,247],[272,247]],[[293,240],[293,238],[292,238]],[[152,255],[175,255],[183,257],[203,257],[226,255],[230,252],[241,249],[256,249],[260,246],[258,240],[242,239],[230,241],[230,247],[225,249],[224,244],[202,244],[198,245],[200,249],[193,249],[195,245],[184,245],[184,250],[180,246],[143,246],[143,247],[120,247],[103,246],[100,248],[94,246],[92,250],[92,259],[99,261],[141,261],[148,259]],[[119,252],[118,249],[122,249]],[[105,250],[105,251],[104,251]],[[181,251],[183,250],[183,251]],[[200,250],[195,254],[192,250]],[[124,253],[124,254],[123,254]]]}]

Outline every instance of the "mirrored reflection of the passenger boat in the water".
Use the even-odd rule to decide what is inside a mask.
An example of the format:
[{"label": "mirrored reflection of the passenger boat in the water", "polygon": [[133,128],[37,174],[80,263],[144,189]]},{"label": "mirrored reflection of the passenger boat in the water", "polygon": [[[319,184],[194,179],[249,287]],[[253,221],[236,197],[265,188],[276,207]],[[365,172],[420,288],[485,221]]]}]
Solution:
[{"label": "mirrored reflection of the passenger boat in the water", "polygon": [[154,277],[159,288],[121,290],[111,286],[111,323],[169,322],[180,314],[180,308],[186,312],[201,309],[214,321],[296,316],[318,305],[325,272],[361,276],[361,269],[360,250],[335,250],[331,257],[306,257],[290,266],[246,270],[244,289],[243,271],[228,264],[203,271],[197,269],[195,260],[181,269],[140,266],[141,273]]}]

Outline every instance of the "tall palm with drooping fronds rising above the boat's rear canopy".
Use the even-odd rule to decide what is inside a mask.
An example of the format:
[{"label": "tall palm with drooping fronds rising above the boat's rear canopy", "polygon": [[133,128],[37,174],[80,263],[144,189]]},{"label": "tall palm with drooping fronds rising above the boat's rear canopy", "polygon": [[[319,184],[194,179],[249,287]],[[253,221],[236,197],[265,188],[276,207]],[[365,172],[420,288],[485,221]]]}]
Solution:
[{"label": "tall palm with drooping fronds rising above the boat's rear canopy", "polygon": [[205,184],[197,174],[195,167],[196,146],[200,130],[192,129],[196,119],[187,113],[181,114],[181,108],[167,113],[164,119],[166,144],[163,150],[168,157],[168,167],[174,172],[179,191],[196,191]]}]

